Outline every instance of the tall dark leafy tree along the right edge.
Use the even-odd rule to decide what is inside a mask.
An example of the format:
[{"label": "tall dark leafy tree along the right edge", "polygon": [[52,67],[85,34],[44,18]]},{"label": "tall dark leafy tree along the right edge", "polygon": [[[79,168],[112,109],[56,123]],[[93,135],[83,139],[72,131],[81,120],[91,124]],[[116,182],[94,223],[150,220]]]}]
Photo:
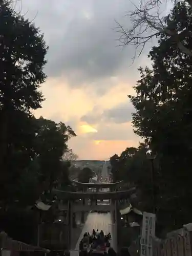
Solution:
[{"label": "tall dark leafy tree along the right edge", "polygon": [[[166,20],[184,36],[188,49],[191,11],[186,3],[177,3]],[[191,222],[192,58],[166,34],[159,36],[149,56],[152,69],[139,69],[136,96],[129,96],[136,109],[133,125],[135,133],[147,139],[158,154],[154,181],[158,221],[177,228]]]}]

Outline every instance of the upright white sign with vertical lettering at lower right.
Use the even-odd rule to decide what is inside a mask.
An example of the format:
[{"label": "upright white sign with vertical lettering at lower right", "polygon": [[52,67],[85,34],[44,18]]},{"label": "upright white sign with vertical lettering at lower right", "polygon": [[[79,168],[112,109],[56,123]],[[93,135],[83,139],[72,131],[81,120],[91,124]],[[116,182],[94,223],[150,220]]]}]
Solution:
[{"label": "upright white sign with vertical lettering at lower right", "polygon": [[143,212],[140,256],[153,256],[152,243],[155,238],[155,214]]}]

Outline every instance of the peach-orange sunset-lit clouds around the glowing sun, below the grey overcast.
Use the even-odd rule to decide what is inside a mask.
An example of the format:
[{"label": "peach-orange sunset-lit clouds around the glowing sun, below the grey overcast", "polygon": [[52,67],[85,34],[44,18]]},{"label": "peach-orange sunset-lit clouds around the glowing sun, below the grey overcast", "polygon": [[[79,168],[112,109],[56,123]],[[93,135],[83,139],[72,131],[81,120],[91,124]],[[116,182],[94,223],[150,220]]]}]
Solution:
[{"label": "peach-orange sunset-lit clouds around the glowing sun, below the grey overcast", "polygon": [[97,107],[94,115],[97,114],[97,110],[102,112],[129,100],[127,94],[133,92],[131,86],[121,82],[117,77],[112,80],[116,85],[113,84],[111,90],[103,96],[91,93],[87,88],[71,89],[61,78],[48,79],[41,88],[46,101],[42,103],[41,109],[35,111],[35,116],[42,115],[67,124],[73,121],[72,129],[77,133],[77,137],[69,141],[69,146],[79,159],[105,160],[116,153],[120,154],[126,147],[138,145],[140,139],[133,134],[131,123],[109,124],[100,120],[92,126],[80,121],[81,117],[91,112],[95,105]]}]

